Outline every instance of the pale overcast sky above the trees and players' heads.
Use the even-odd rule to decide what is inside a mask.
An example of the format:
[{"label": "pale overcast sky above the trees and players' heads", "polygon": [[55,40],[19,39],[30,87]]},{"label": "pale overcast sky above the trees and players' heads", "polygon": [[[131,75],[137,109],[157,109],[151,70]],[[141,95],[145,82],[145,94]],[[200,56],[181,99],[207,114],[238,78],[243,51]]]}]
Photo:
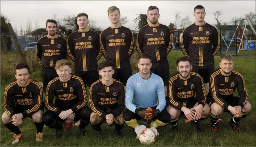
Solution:
[{"label": "pale overcast sky above the trees and players' heads", "polygon": [[45,23],[47,19],[52,19],[54,14],[57,15],[57,19],[61,19],[67,14],[77,15],[80,12],[88,14],[89,20],[95,20],[97,26],[102,29],[107,28],[110,25],[108,19],[107,9],[110,6],[117,6],[120,9],[121,16],[128,17],[128,23],[126,27],[132,29],[134,27],[134,19],[138,13],[147,13],[147,8],[150,5],[155,5],[159,8],[160,19],[159,22],[165,25],[169,25],[170,22],[175,21],[174,13],[181,12],[181,17],[189,15],[191,21],[194,21],[193,8],[196,5],[202,5],[206,9],[206,22],[209,24],[217,24],[214,19],[213,13],[215,11],[222,11],[220,20],[222,22],[230,22],[232,17],[243,16],[244,13],[256,11],[255,0],[190,0],[190,1],[174,1],[174,0],[1,0],[0,12],[4,16],[7,16],[13,28],[17,28],[18,31],[23,26],[25,30],[27,20],[31,20],[33,26],[38,21],[40,28],[46,28]]}]

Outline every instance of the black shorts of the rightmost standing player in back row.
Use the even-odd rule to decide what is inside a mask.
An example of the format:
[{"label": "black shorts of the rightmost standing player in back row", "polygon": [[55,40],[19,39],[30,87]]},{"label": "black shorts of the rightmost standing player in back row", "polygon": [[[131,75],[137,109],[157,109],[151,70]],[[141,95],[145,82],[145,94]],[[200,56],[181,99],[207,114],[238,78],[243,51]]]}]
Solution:
[{"label": "black shorts of the rightmost standing player in back row", "polygon": [[210,75],[215,71],[214,65],[211,66],[194,66],[192,68],[192,72],[196,72],[204,80],[204,83],[209,83]]}]

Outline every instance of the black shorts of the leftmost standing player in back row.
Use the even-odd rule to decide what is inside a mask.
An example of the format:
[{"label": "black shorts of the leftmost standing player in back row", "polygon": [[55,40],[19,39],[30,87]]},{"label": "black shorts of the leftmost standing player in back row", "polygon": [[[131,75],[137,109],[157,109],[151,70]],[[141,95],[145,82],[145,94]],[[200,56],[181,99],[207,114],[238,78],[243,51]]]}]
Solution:
[{"label": "black shorts of the leftmost standing player in back row", "polygon": [[43,82],[43,91],[46,91],[48,83],[58,76],[54,68],[44,68],[42,67],[42,82]]}]

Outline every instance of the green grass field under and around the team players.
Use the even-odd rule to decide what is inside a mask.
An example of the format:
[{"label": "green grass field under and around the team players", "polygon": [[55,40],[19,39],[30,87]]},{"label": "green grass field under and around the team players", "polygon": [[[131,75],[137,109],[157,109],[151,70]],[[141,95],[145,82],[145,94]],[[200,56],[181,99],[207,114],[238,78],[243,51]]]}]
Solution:
[{"label": "green grass field under and around the team players", "polygon": [[[240,52],[241,53],[241,52]],[[239,54],[240,54],[239,53]],[[255,55],[255,53],[254,53]],[[183,56],[180,51],[171,51],[168,55],[170,64],[170,74],[176,72],[176,59]],[[215,68],[219,68],[218,62],[219,57],[215,57]],[[135,61],[136,62],[136,61]],[[3,62],[2,62],[3,64]],[[240,72],[245,79],[246,88],[248,91],[248,101],[252,104],[252,112],[247,118],[241,120],[240,132],[232,131],[228,124],[231,118],[230,113],[224,113],[222,115],[223,122],[218,124],[218,131],[211,131],[210,117],[201,122],[202,132],[196,133],[193,130],[192,124],[185,123],[185,116],[182,116],[178,121],[179,131],[173,132],[171,125],[159,128],[159,136],[156,138],[154,144],[150,146],[256,146],[256,115],[255,115],[255,77],[256,77],[256,59],[254,57],[235,57],[234,69]],[[1,65],[4,66],[4,65]],[[40,80],[40,77],[32,78]],[[14,79],[14,76],[13,76]],[[4,79],[1,77],[1,103],[0,110],[3,114],[3,95],[4,87],[13,79]],[[237,92],[236,92],[237,94]],[[13,146],[12,138],[13,133],[10,132],[4,124],[0,123],[0,135],[1,135],[1,146]],[[150,124],[147,124],[149,127]],[[123,129],[124,137],[118,139],[114,135],[114,127],[109,127],[103,123],[102,130],[105,136],[104,140],[100,140],[96,137],[95,131],[92,130],[89,124],[86,127],[86,136],[77,138],[78,127],[74,126],[71,131],[65,130],[61,139],[54,139],[55,130],[49,127],[44,127],[44,141],[41,143],[35,142],[36,128],[32,119],[26,118],[23,120],[21,126],[19,126],[24,138],[16,146],[143,146],[139,143],[139,140],[135,138],[134,129],[125,125]]]}]

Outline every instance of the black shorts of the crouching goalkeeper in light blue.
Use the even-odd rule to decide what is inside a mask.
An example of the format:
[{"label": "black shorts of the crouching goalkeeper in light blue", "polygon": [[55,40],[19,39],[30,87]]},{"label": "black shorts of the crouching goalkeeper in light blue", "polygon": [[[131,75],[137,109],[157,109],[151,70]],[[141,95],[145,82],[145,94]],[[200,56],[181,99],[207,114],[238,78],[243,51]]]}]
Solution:
[{"label": "black shorts of the crouching goalkeeper in light blue", "polygon": [[[152,107],[153,110],[156,109],[157,106]],[[141,108],[142,109],[142,108]],[[145,108],[146,109],[146,108]],[[123,113],[123,117],[125,119],[125,121],[130,121],[131,119],[143,119],[142,117],[140,117],[139,115],[135,114],[134,112],[130,111],[129,109],[125,109],[124,113]],[[158,115],[156,115],[153,120],[158,119],[159,121],[163,122],[163,123],[169,123],[171,116],[168,113],[168,111],[166,109],[163,109],[163,111],[161,111],[160,113],[158,113]]]}]

